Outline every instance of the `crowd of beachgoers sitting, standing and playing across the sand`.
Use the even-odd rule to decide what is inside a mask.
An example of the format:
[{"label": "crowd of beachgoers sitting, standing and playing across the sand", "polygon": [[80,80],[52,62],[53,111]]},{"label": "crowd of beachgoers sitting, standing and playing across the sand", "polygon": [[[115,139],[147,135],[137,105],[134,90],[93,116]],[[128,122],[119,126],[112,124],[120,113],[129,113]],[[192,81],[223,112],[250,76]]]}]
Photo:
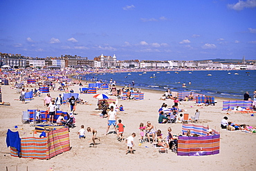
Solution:
[{"label": "crowd of beachgoers sitting, standing and playing across the sand", "polygon": [[[113,71],[113,70],[111,70]],[[122,70],[124,72],[127,72],[127,70]],[[86,71],[86,73],[89,73],[91,71]],[[99,72],[109,72],[109,70],[100,70]],[[42,97],[44,94],[42,92],[39,92],[36,86],[45,86],[48,87],[49,90],[54,91],[60,91],[60,92],[66,92],[66,93],[74,93],[74,90],[71,88],[69,89],[69,85],[71,84],[71,80],[68,79],[68,75],[70,74],[84,74],[84,72],[81,72],[80,70],[17,70],[17,71],[11,71],[11,72],[4,72],[1,73],[1,77],[8,79],[13,85],[13,88],[17,88],[20,93],[19,100],[21,103],[25,103],[25,93],[29,92],[30,90],[28,88],[33,88],[33,95],[34,97]],[[54,79],[53,79],[53,78]],[[26,83],[27,79],[35,79],[35,85]],[[79,77],[78,77],[79,78]],[[81,81],[77,81],[77,84],[79,86],[83,86]],[[116,88],[116,81],[113,79],[110,79],[109,83],[109,95],[114,95],[116,97],[119,97],[120,92],[126,92],[128,99],[133,99],[131,97],[132,92],[140,92],[140,90],[135,88],[134,81],[131,82],[129,86],[125,86],[123,88]],[[161,97],[162,100],[165,100],[165,103],[163,103],[160,108],[157,110],[156,113],[158,113],[158,124],[167,124],[167,123],[189,123],[189,122],[198,122],[200,111],[199,109],[195,110],[194,116],[190,117],[189,119],[184,119],[184,112],[186,109],[182,109],[179,107],[179,104],[181,104],[181,101],[176,97],[174,92],[171,92],[169,89],[166,90],[166,92],[163,94],[163,97]],[[174,105],[170,105],[169,107],[167,105],[167,100],[172,101]],[[188,97],[185,98],[185,101],[194,101],[194,97],[192,94],[190,94]],[[244,101],[252,101],[253,104],[253,110],[255,109],[256,105],[256,90],[253,92],[253,99],[250,97],[248,92],[244,94]],[[51,93],[47,93],[46,97],[44,97],[44,106],[46,107],[46,111],[49,114],[49,119],[46,124],[53,125],[53,119],[54,115],[56,114],[57,110],[60,110],[61,106],[64,104],[64,102],[67,103],[67,105],[70,107],[70,112],[68,112],[68,120],[64,119],[64,114],[60,115],[60,117],[57,118],[56,125],[73,125],[75,120],[75,114],[76,114],[76,107],[77,103],[85,103],[88,104],[87,101],[83,101],[83,99],[75,99],[74,96],[72,96],[69,99],[63,99],[62,94],[59,94],[58,97],[51,97]],[[168,102],[169,103],[169,102]],[[102,104],[101,104],[102,105]],[[205,103],[205,105],[209,105]],[[122,124],[122,119],[118,119],[118,112],[124,111],[124,106],[117,105],[116,102],[112,102],[108,105],[104,105],[104,108],[101,108],[102,112],[99,114],[92,114],[92,115],[99,115],[101,118],[107,118],[107,126],[106,126],[106,136],[110,133],[109,129],[111,126],[113,126],[113,133],[117,134],[118,141],[126,141],[127,143],[127,151],[126,154],[134,153],[134,137],[136,137],[136,130],[134,132],[131,132],[131,135],[124,138],[124,132],[125,132],[125,125]],[[129,110],[129,109],[127,109]],[[244,109],[240,109],[239,106],[237,106],[237,109],[234,109],[237,111],[242,111]],[[230,112],[230,111],[229,111]],[[37,117],[39,117],[39,114],[37,114]],[[221,128],[227,129],[227,130],[252,130],[255,129],[253,127],[250,127],[246,124],[240,124],[236,125],[235,123],[228,122],[228,117],[224,117],[221,121]],[[126,125],[128,126],[128,125]],[[172,128],[168,125],[166,130],[166,135],[164,136],[163,131],[156,129],[156,126],[151,123],[151,121],[147,121],[146,124],[144,123],[138,123],[138,130],[140,130],[140,145],[141,143],[152,143],[156,147],[163,147],[167,149],[171,149],[175,152],[175,149],[178,147],[178,139],[179,136],[187,136],[187,137],[198,137],[199,134],[191,134],[190,130],[186,132],[185,134],[179,134],[174,135],[172,134]],[[86,137],[86,131],[91,134],[90,143],[91,145],[96,147],[97,143],[95,140],[99,140],[100,138],[97,137],[97,129],[91,128],[88,126],[87,128],[84,127],[84,125],[80,125],[80,130],[77,132],[79,139],[84,139]],[[208,135],[212,135],[214,132],[209,128],[208,129]],[[40,135],[40,137],[45,137],[46,132],[44,132]]]}]

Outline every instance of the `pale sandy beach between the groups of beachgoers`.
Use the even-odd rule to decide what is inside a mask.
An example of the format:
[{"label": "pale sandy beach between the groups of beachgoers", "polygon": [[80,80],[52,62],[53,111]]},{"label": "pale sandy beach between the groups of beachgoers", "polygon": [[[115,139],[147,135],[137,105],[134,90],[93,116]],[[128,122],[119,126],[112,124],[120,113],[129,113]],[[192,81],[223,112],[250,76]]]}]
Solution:
[{"label": "pale sandy beach between the groups of beachgoers", "polygon": [[[72,87],[75,92],[79,92],[79,86]],[[124,137],[127,138],[132,132],[136,132],[135,137],[135,154],[125,154],[126,143],[119,142],[116,134],[104,136],[107,130],[107,119],[101,119],[98,116],[90,115],[91,113],[100,113],[97,108],[97,99],[93,99],[93,94],[80,94],[85,101],[91,105],[77,105],[75,116],[77,127],[71,128],[70,142],[72,149],[63,154],[59,154],[50,160],[25,159],[10,156],[10,149],[6,148],[6,131],[15,130],[14,126],[18,125],[21,137],[31,137],[30,132],[34,127],[30,124],[21,123],[22,111],[28,109],[45,110],[44,97],[35,97],[33,101],[15,101],[19,98],[17,90],[11,86],[2,86],[3,101],[10,102],[8,105],[0,105],[0,170],[255,170],[256,134],[250,134],[241,131],[230,132],[221,130],[219,125],[221,119],[226,116],[226,112],[221,111],[223,99],[218,99],[214,106],[197,107],[194,102],[181,102],[180,108],[187,110],[190,115],[194,115],[196,108],[201,112],[199,124],[209,125],[210,128],[220,131],[221,145],[220,153],[203,157],[180,157],[169,150],[167,154],[159,154],[158,149],[152,147],[150,143],[139,144],[140,122],[146,123],[151,121],[157,129],[162,130],[164,137],[167,135],[167,128],[171,127],[174,134],[181,133],[181,123],[159,124],[158,108],[163,102],[169,106],[173,104],[172,100],[159,100],[163,92],[145,90],[145,99],[142,101],[119,101],[118,105],[124,105],[125,111],[119,112],[118,119],[122,119],[125,125]],[[98,91],[100,92],[100,91]],[[107,92],[107,91],[102,91]],[[58,91],[51,91],[52,97],[57,97]],[[113,97],[113,99],[116,99]],[[192,106],[192,107],[191,107]],[[69,111],[67,105],[61,107],[64,111]],[[250,117],[249,114],[228,115],[229,121],[235,123],[247,123],[256,126],[256,117]],[[97,148],[89,148],[89,139],[91,134],[86,132],[86,139],[80,140],[77,137],[77,131],[80,125],[91,126],[98,130],[98,137],[101,143]],[[23,128],[24,130],[21,130]],[[110,128],[110,131],[112,128]],[[39,137],[39,134],[35,134]],[[98,142],[98,141],[97,141]],[[148,148],[146,148],[146,146]]]}]

